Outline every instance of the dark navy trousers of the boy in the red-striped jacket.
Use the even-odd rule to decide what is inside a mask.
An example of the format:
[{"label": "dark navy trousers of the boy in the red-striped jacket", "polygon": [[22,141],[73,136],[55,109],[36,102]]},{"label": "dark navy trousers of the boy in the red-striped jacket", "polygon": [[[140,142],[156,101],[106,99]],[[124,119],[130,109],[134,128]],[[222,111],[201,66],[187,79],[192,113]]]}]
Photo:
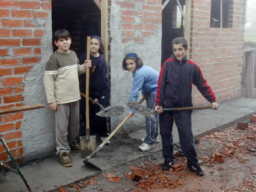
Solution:
[{"label": "dark navy trousers of the boy in the red-striped jacket", "polygon": [[188,165],[195,166],[198,164],[198,160],[195,152],[190,111],[164,112],[159,115],[163,157],[167,162],[175,158],[173,155],[174,146],[172,135],[174,120],[179,133],[182,153],[188,159]]}]

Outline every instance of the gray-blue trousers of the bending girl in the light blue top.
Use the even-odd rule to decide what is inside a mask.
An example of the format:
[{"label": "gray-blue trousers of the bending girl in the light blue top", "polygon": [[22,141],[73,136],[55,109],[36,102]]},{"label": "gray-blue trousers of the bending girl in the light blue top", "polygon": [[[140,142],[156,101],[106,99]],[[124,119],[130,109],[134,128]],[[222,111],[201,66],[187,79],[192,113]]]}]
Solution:
[{"label": "gray-blue trousers of the bending girl in the light blue top", "polygon": [[[155,109],[155,94],[149,94],[148,99],[146,100],[147,108],[154,110]],[[144,143],[148,145],[155,143],[155,138],[158,136],[158,114],[155,115],[154,119],[145,117],[146,121],[146,133],[147,136],[144,139]]]}]

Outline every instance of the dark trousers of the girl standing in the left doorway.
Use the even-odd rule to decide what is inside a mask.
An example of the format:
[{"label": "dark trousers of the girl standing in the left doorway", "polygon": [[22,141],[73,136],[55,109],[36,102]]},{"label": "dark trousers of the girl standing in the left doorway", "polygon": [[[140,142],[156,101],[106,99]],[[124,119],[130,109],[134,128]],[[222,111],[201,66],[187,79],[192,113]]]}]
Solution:
[{"label": "dark trousers of the girl standing in the left doorway", "polygon": [[[106,108],[109,106],[109,96],[108,90],[101,94],[99,103]],[[80,126],[80,135],[86,135],[86,99],[82,98],[82,119],[83,123]],[[100,112],[100,107],[92,104],[89,101],[89,126],[90,126],[90,135],[98,135],[100,137],[108,137],[108,120],[106,117],[100,117],[96,113]]]}]

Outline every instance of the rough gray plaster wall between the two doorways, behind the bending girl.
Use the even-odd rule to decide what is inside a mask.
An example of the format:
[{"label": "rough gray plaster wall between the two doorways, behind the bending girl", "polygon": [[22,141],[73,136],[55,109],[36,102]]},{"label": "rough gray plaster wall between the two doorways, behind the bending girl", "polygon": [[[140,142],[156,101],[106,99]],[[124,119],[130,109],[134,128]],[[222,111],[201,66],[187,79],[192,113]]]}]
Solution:
[{"label": "rough gray plaster wall between the two doorways, behind the bending girl", "polygon": [[[112,130],[121,123],[126,117],[128,108],[126,106],[129,100],[130,91],[132,88],[133,77],[132,73],[122,70],[122,60],[127,53],[137,53],[144,65],[152,66],[160,72],[161,69],[161,41],[162,41],[162,26],[156,27],[150,37],[144,37],[143,43],[137,44],[131,40],[127,43],[122,43],[122,22],[121,22],[121,7],[116,4],[117,0],[111,1],[110,15],[110,35],[111,35],[111,105],[125,106],[124,114],[111,118]],[[142,3],[136,2],[135,11],[141,11]],[[136,24],[141,24],[141,18],[135,17]],[[141,37],[141,31],[136,32],[137,37]],[[141,99],[141,93],[140,98]],[[144,101],[144,105],[145,105]],[[123,126],[125,131],[135,131],[137,128],[145,126],[145,118],[140,114],[128,119]],[[146,134],[146,133],[145,133]]]}]

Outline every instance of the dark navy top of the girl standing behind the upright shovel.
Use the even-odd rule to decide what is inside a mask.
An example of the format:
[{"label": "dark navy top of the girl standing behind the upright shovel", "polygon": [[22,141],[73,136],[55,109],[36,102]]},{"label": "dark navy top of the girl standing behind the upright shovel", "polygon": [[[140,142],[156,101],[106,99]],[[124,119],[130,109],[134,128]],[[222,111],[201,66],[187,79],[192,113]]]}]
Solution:
[{"label": "dark navy top of the girl standing behind the upright shovel", "polygon": [[[86,53],[83,53],[79,60],[80,64],[83,64],[85,60]],[[107,62],[101,54],[98,57],[90,55],[90,60],[92,60],[92,67],[90,68],[89,96],[92,99],[100,99],[105,92],[108,92]],[[80,89],[85,93],[86,73],[80,75]]]}]

